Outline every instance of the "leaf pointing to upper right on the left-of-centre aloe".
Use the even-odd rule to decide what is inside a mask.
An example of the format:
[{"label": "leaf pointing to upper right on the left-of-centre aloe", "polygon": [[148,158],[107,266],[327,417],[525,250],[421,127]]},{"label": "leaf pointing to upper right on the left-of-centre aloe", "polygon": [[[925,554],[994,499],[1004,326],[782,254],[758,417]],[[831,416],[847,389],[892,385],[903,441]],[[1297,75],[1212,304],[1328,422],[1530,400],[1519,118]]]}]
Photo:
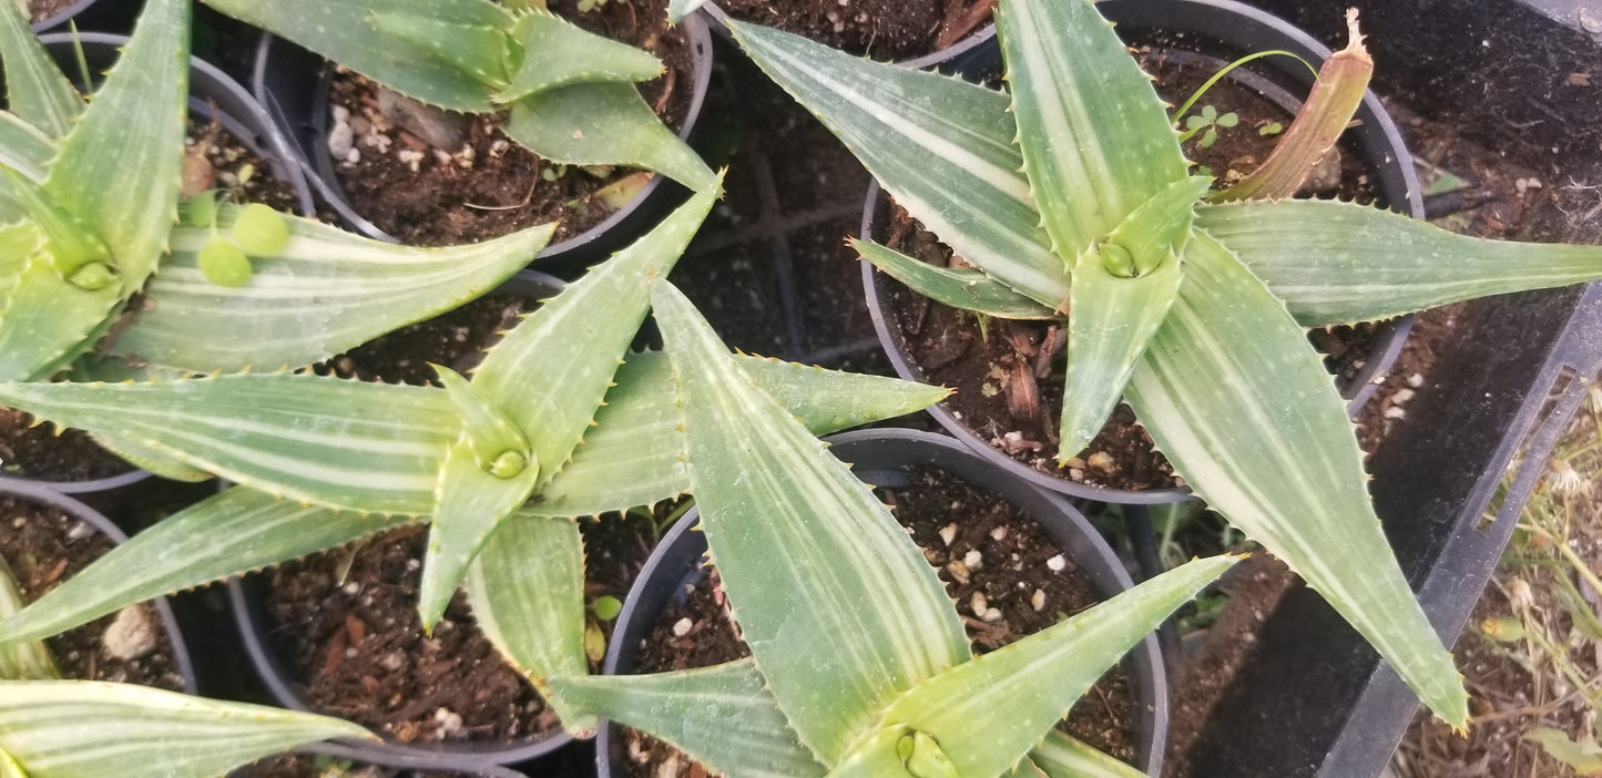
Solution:
[{"label": "leaf pointing to upper right on the left-of-centre aloe", "polygon": [[508,331],[473,371],[473,389],[529,435],[541,487],[583,440],[646,317],[652,280],[666,277],[716,194],[713,187],[692,197],[567,285]]}]

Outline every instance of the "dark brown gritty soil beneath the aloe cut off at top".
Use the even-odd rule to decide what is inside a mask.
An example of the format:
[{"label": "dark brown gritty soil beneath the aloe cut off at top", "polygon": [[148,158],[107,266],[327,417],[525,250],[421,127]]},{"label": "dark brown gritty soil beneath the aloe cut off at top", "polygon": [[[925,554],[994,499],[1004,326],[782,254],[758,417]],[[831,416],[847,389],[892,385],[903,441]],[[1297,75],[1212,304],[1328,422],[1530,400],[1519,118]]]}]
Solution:
[{"label": "dark brown gritty soil beneath the aloe cut off at top", "polygon": [[[666,0],[614,0],[588,13],[577,10],[577,0],[551,0],[549,8],[660,58],[666,75],[639,85],[641,93],[668,126],[684,123],[692,53],[684,32],[663,24]],[[596,192],[631,173],[618,168],[598,178],[574,168],[554,178],[556,168],[506,139],[497,115],[471,122],[471,155],[434,149],[412,133],[389,128],[378,112],[373,83],[348,72],[335,75],[330,99],[351,112],[360,152],[359,162],[336,165],[351,205],[407,245],[471,243],[557,221],[554,243],[601,223],[609,211]],[[378,146],[364,141],[378,136]],[[402,152],[421,155],[417,170],[400,160]],[[545,173],[554,181],[546,181]]]}]

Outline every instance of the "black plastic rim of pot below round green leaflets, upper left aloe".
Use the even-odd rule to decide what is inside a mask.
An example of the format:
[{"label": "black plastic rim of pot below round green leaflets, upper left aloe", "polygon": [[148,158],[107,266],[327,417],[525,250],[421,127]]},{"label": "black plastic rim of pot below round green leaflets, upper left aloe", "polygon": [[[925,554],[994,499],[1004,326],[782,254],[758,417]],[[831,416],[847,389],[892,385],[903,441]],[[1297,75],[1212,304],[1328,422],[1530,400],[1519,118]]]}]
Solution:
[{"label": "black plastic rim of pot below round green leaflets, upper left aloe", "polygon": [[[78,45],[82,45],[90,70],[104,72],[117,61],[119,51],[128,43],[128,38],[101,32],[82,32],[77,37],[67,32],[56,32],[42,35],[40,42],[45,43],[45,48],[67,72],[77,72],[75,56]],[[311,189],[308,189],[306,179],[296,165],[279,163],[279,160],[290,160],[293,155],[288,141],[277,131],[261,106],[256,104],[244,86],[211,64],[191,58],[189,66],[191,114],[215,118],[229,134],[250,149],[252,154],[268,160],[272,166],[271,174],[295,189],[296,210],[301,215],[311,215]],[[27,483],[69,495],[85,495],[127,487],[149,477],[151,474],[143,469],[131,469],[130,472],[80,482],[50,482],[0,475],[0,483]]]}]

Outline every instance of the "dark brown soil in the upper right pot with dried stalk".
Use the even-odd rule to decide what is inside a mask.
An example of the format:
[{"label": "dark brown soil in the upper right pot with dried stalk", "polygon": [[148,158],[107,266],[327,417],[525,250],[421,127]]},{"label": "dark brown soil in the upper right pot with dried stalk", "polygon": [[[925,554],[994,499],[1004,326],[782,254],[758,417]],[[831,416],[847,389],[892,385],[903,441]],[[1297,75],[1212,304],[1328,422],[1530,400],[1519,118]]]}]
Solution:
[{"label": "dark brown soil in the upper right pot with dried stalk", "polygon": [[[1184,102],[1214,72],[1169,61],[1160,51],[1142,48],[1141,59],[1158,78],[1158,93],[1173,104]],[[1272,150],[1275,138],[1259,134],[1259,126],[1291,120],[1277,104],[1229,78],[1214,85],[1203,102],[1240,117],[1237,126],[1219,131],[1211,147],[1202,147],[1200,134],[1185,144],[1187,155],[1208,166],[1221,184],[1250,173]],[[1342,154],[1341,166],[1339,184],[1328,186],[1342,199],[1371,202],[1373,186],[1357,166],[1357,155]],[[950,248],[899,207],[891,211],[888,232],[888,245],[918,259],[955,261]],[[1065,346],[1061,323],[990,320],[980,327],[966,311],[948,309],[896,282],[884,282],[902,347],[928,383],[956,389],[945,407],[979,437],[1040,472],[1086,485],[1126,490],[1181,485],[1173,466],[1153,451],[1150,437],[1121,403],[1091,445],[1065,467],[1057,467]],[[1368,359],[1373,327],[1317,331],[1312,339],[1325,347],[1331,371],[1350,379]]]}]

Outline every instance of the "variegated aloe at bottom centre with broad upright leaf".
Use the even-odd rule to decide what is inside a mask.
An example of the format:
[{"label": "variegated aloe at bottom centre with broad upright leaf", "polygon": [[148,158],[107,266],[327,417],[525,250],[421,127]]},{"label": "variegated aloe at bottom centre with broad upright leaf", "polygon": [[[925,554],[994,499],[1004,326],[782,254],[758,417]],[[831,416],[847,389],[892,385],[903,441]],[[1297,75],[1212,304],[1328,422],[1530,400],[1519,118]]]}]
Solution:
[{"label": "variegated aloe at bottom centre with broad upright leaf", "polygon": [[1193,560],[974,658],[934,568],[873,491],[740,370],[678,290],[663,283],[652,303],[700,528],[751,658],[554,676],[559,696],[731,776],[1141,775],[1053,727],[1232,559]]}]

